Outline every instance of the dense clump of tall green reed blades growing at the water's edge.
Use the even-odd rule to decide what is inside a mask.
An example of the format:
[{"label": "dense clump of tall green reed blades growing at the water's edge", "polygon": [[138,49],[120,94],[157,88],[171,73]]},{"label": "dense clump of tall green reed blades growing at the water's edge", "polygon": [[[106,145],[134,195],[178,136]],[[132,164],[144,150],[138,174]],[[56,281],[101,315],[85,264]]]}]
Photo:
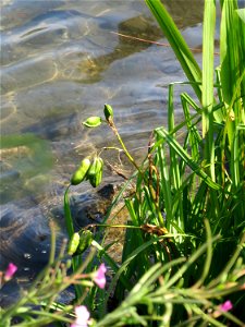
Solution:
[{"label": "dense clump of tall green reed blades growing at the water's edge", "polygon": [[[184,120],[176,124],[173,90],[176,84],[185,83],[169,86],[168,128],[154,131],[142,169],[144,173],[140,172],[136,180],[135,196],[125,201],[131,216],[128,225],[148,225],[148,230],[145,229],[145,233],[126,231],[122,266],[124,263],[127,266],[121,270],[121,276],[139,280],[152,264],[166,265],[192,256],[206,242],[204,221],[208,220],[210,234],[220,238],[183,278],[185,287],[205,287],[222,275],[245,231],[244,38],[238,35],[238,31],[244,33],[244,23],[238,17],[236,1],[221,1],[221,64],[215,69],[216,3],[205,2],[200,71],[163,4],[157,0],[146,0],[146,3],[168,38],[197,100],[186,93],[181,94]],[[160,231],[171,237],[145,249]],[[144,250],[136,257],[132,256],[139,249]],[[119,279],[118,274],[115,278]],[[119,279],[115,296],[123,301],[126,292]],[[244,303],[244,296],[236,295],[236,302]],[[177,323],[181,319],[183,316]]]}]

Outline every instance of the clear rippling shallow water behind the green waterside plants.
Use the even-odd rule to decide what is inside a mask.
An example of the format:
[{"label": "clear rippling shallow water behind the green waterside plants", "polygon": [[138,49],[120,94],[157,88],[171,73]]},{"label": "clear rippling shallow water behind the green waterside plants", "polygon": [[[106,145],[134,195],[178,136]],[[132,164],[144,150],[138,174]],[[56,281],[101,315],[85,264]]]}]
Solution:
[{"label": "clear rippling shallow water behind the green waterside plants", "polygon": [[[189,46],[200,48],[200,1],[166,2]],[[112,32],[166,43],[143,0],[1,4],[0,269],[15,263],[19,281],[47,262],[50,219],[63,238],[62,194],[81,159],[117,145],[107,126],[87,130],[82,121],[110,104],[139,160],[152,129],[166,124],[168,84],[185,80],[170,48]],[[103,157],[119,165],[117,154]],[[106,171],[103,184],[118,180]],[[74,193],[81,207],[101,201],[87,183]]]}]

